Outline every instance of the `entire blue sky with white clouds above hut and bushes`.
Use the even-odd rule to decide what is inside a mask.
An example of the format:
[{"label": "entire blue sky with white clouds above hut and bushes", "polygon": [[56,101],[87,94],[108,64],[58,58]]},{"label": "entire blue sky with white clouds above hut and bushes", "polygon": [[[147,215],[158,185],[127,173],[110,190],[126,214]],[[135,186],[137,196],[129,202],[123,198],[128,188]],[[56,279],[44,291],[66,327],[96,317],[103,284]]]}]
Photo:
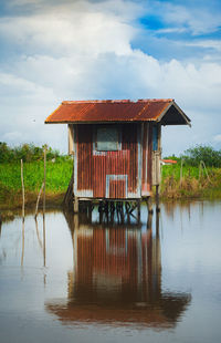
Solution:
[{"label": "entire blue sky with white clouds above hut and bushes", "polygon": [[64,100],[175,98],[162,155],[221,148],[220,0],[0,0],[0,142],[67,153]]}]

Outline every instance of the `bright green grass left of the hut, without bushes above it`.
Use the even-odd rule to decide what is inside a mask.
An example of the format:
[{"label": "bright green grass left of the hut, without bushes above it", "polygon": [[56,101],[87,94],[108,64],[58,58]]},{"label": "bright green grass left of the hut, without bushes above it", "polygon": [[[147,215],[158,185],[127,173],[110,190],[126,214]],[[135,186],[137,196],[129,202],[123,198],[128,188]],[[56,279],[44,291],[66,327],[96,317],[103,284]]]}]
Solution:
[{"label": "bright green grass left of the hut, without bushes above it", "polygon": [[[49,204],[61,204],[67,189],[73,162],[59,160],[46,163],[46,198]],[[42,160],[24,163],[23,177],[25,202],[36,201],[44,177]],[[0,164],[0,208],[14,208],[21,206],[21,165],[20,163]]]}]

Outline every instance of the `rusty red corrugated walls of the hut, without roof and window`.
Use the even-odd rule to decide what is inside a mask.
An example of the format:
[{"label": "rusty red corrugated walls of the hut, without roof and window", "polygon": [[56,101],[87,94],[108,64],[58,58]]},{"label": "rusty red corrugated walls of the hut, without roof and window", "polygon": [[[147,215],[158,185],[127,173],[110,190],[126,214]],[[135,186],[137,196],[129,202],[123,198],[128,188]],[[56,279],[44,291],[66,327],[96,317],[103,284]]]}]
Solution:
[{"label": "rusty red corrugated walls of the hut, without roof and window", "polygon": [[[117,150],[96,150],[96,129],[103,124],[70,125],[74,154],[74,194],[80,198],[136,199],[147,197],[160,181],[160,125],[158,149],[152,150],[151,123],[108,124],[120,133]],[[156,132],[156,129],[155,129]],[[72,145],[71,142],[74,142]]]}]

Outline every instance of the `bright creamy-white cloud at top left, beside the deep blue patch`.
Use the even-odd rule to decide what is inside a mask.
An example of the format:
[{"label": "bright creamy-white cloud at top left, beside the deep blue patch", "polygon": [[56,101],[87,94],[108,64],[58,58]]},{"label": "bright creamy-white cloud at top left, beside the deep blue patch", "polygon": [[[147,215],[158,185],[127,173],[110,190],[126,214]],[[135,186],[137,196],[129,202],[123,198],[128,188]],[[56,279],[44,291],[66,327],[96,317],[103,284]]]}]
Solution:
[{"label": "bright creamy-white cloud at top left, beside the deep blue patch", "polygon": [[[0,34],[22,45],[27,53],[42,50],[65,56],[76,52],[126,54],[130,52],[129,41],[136,33],[127,21],[137,7],[127,2],[125,8],[123,3],[105,1],[93,7],[90,2],[76,1],[29,17],[3,18],[0,19]],[[116,4],[118,14],[114,10],[108,11]]]}]

